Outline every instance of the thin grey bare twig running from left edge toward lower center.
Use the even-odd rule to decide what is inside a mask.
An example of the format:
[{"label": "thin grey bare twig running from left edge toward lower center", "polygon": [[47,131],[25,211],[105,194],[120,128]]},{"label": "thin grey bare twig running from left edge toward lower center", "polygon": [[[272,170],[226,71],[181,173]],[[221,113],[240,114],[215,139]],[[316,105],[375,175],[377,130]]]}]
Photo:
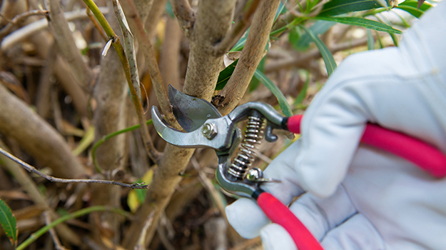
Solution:
[{"label": "thin grey bare twig running from left edge toward lower center", "polygon": [[9,154],[4,149],[0,148],[0,153],[4,154],[9,159],[15,161],[17,164],[20,164],[24,167],[27,171],[37,174],[38,176],[41,176],[44,179],[47,179],[51,182],[59,182],[59,183],[96,183],[96,184],[110,184],[110,185],[117,185],[117,186],[124,186],[129,189],[148,189],[148,185],[144,185],[143,183],[136,183],[136,184],[125,184],[118,181],[106,181],[106,180],[88,180],[88,179],[61,179],[56,178],[53,176],[49,176],[48,174],[44,174],[41,171],[34,168],[34,166],[31,166],[27,164],[24,161],[21,161],[20,159],[16,158],[12,154]]}]

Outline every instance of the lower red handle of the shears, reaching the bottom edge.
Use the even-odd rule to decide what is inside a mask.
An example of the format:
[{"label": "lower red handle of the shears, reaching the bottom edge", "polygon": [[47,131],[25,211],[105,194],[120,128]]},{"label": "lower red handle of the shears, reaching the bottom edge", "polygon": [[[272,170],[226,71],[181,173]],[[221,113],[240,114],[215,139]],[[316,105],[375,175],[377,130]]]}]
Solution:
[{"label": "lower red handle of the shears, reaching the bottom edge", "polygon": [[278,199],[267,192],[257,198],[258,206],[274,223],[283,226],[299,250],[323,250],[319,241],[300,222],[300,220]]}]

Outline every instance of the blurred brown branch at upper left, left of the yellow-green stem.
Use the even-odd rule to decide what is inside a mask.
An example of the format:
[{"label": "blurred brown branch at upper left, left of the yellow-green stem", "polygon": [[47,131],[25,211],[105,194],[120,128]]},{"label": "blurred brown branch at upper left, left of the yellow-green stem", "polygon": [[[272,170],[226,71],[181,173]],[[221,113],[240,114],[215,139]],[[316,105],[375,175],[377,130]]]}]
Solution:
[{"label": "blurred brown branch at upper left, left of the yellow-green stem", "polygon": [[91,81],[91,70],[83,61],[81,51],[79,51],[74,42],[59,0],[49,0],[49,6],[51,28],[53,29],[54,39],[59,46],[59,51],[61,51],[68,62],[74,78],[83,88],[86,88]]}]

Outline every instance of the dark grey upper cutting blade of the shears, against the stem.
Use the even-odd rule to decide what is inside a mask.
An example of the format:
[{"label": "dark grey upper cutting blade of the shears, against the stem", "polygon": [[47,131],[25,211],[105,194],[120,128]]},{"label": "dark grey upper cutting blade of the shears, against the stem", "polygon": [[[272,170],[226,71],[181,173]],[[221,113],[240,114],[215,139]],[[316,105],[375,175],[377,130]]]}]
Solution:
[{"label": "dark grey upper cutting blade of the shears, against the stem", "polygon": [[198,129],[208,119],[221,117],[216,107],[208,101],[183,94],[172,85],[168,86],[168,95],[173,115],[186,132]]}]

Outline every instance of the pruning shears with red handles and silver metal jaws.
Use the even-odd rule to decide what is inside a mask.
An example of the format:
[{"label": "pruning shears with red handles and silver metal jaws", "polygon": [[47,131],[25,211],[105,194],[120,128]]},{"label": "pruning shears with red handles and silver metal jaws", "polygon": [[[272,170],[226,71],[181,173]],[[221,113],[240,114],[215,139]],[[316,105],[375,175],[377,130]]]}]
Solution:
[{"label": "pruning shears with red handles and silver metal jaws", "polygon": [[[271,221],[288,231],[298,249],[323,249],[287,206],[261,189],[263,183],[274,180],[263,178],[260,169],[250,168],[255,145],[263,138],[276,141],[278,137],[273,134],[273,129],[300,134],[302,115],[285,117],[268,104],[248,102],[222,116],[208,101],[183,94],[172,86],[168,88],[168,96],[173,114],[184,131],[169,126],[158,108],[153,106],[153,126],[165,141],[184,148],[215,149],[218,156],[216,179],[225,191],[255,199]],[[242,136],[236,125],[246,119],[247,127]],[[361,142],[412,161],[432,176],[446,176],[446,156],[423,141],[376,124],[367,124]],[[231,159],[237,149],[238,153]]]}]

